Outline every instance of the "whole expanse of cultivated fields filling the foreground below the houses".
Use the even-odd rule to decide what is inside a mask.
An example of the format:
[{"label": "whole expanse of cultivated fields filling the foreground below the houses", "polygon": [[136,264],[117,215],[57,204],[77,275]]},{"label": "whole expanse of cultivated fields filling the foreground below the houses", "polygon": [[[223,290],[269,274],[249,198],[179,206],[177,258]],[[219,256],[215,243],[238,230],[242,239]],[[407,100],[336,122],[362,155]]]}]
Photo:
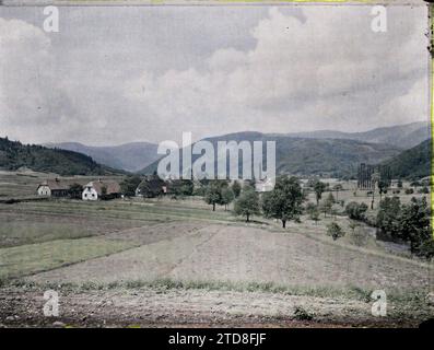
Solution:
[{"label": "whole expanse of cultivated fields filling the foreground below the houses", "polygon": [[[364,224],[353,236],[347,217],[335,242],[333,219],[320,219],[246,224],[200,198],[2,203],[0,323],[417,326],[432,315],[427,262]],[[43,316],[47,289],[59,318]],[[371,314],[373,290],[387,293],[386,317]]]}]

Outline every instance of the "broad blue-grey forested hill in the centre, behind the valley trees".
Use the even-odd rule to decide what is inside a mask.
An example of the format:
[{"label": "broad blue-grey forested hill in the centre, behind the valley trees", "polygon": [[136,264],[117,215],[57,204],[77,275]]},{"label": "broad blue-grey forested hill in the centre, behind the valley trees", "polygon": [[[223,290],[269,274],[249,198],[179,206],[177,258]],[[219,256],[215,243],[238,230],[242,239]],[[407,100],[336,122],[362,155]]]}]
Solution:
[{"label": "broad blue-grey forested hill in the centre, behind the valley trees", "polygon": [[[348,139],[312,139],[294,138],[284,135],[265,135],[260,132],[237,132],[221,137],[208,138],[216,150],[218,141],[275,141],[277,174],[329,176],[352,176],[357,165],[364,163],[380,163],[401,150],[383,143],[368,143]],[[193,155],[192,160],[199,155]],[[266,164],[265,154],[263,164]],[[214,168],[216,168],[216,160]],[[140,173],[151,174],[157,167],[159,161]],[[239,164],[241,165],[241,164]],[[242,167],[239,166],[239,172]]]}]

